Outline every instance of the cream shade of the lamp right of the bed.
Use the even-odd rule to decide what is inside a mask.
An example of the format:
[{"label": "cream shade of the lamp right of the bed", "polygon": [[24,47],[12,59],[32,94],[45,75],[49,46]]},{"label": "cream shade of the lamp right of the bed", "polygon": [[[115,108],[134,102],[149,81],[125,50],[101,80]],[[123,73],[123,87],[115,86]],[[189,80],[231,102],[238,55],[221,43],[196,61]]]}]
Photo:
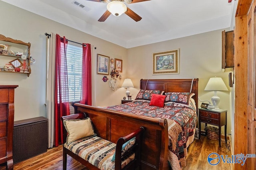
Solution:
[{"label": "cream shade of the lamp right of the bed", "polygon": [[212,77],[206,84],[206,91],[227,91],[228,88],[225,85],[221,77]]}]

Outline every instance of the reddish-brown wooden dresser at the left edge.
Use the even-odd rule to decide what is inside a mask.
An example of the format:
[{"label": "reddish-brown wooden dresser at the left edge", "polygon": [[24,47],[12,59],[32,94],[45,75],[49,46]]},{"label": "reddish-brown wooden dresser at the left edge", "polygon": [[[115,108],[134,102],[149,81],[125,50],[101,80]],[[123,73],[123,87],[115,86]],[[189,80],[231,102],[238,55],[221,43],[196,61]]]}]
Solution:
[{"label": "reddish-brown wooden dresser at the left edge", "polygon": [[14,89],[18,85],[0,85],[0,164],[13,169],[12,137],[14,124]]}]

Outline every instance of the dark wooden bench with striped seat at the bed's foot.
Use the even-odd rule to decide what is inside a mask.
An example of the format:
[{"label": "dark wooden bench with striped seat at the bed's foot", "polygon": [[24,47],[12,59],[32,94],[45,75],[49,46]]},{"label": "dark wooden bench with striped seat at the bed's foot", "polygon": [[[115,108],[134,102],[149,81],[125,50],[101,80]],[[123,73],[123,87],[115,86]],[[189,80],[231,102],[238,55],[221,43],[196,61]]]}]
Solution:
[{"label": "dark wooden bench with striped seat at the bed's foot", "polygon": [[[88,115],[86,113],[76,113],[74,115],[68,115],[68,116],[62,117],[62,121],[85,119],[87,117]],[[92,124],[94,126],[93,122]],[[76,159],[78,162],[80,162],[90,170],[99,170],[98,168],[99,164],[100,164],[99,167],[108,165],[108,166],[111,166],[112,169],[114,170],[121,170],[121,169],[134,170],[140,166],[140,143],[141,143],[140,139],[143,131],[144,131],[144,127],[139,127],[136,131],[133,131],[132,133],[124,137],[120,137],[118,141],[115,142],[116,144],[104,139],[103,138],[104,135],[98,134],[98,133],[90,137],[86,137],[86,138],[78,139],[73,142],[66,143],[67,131],[65,129],[63,134],[63,139],[64,139],[63,170],[66,170],[66,166],[67,166],[67,154],[72,156],[74,159]],[[123,144],[128,142],[129,140],[134,139],[134,137],[136,139],[135,144],[125,153],[122,153]],[[97,142],[95,142],[96,143],[95,145],[92,145],[94,141],[97,141]],[[102,149],[102,145],[99,145],[98,141],[101,141],[100,143],[107,143],[106,148],[110,150],[110,152],[108,151],[105,152],[105,150],[103,151],[105,155],[108,154],[108,158],[104,158],[104,159],[102,158],[100,162],[98,161],[98,159],[101,159],[101,156],[95,161],[92,161],[92,158],[96,157],[94,154],[97,154],[98,156],[98,152],[95,152],[95,153],[92,151],[90,151],[89,153],[87,152],[88,150],[90,150],[88,148],[91,148],[89,147],[90,145],[92,145],[94,150],[100,150],[99,149],[100,147]],[[79,152],[74,149],[75,147],[77,150],[79,150]],[[115,149],[113,149],[114,147]],[[99,152],[102,152],[102,151],[99,151]],[[112,158],[113,153],[116,154],[115,155],[116,159],[114,162],[113,161],[110,162],[110,159]],[[82,158],[82,156],[79,156],[79,155],[86,155],[85,156],[86,158]],[[124,167],[122,168],[122,166]]]}]

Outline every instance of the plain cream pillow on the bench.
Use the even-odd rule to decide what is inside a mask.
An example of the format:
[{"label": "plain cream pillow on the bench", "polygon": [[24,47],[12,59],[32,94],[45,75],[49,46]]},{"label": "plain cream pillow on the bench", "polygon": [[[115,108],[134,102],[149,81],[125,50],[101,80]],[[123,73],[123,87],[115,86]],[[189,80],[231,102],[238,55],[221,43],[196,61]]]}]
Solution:
[{"label": "plain cream pillow on the bench", "polygon": [[67,143],[94,135],[90,117],[86,119],[64,120],[63,124],[68,131]]}]

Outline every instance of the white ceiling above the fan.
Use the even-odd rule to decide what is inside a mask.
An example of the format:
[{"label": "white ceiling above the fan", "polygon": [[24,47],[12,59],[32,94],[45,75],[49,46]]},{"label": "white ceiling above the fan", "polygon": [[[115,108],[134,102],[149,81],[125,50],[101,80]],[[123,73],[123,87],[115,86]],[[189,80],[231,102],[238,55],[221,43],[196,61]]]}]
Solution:
[{"label": "white ceiling above the fan", "polygon": [[126,14],[99,22],[106,3],[76,0],[81,8],[74,0],[2,1],[125,48],[232,27],[237,6],[235,0],[148,0],[126,4],[142,17],[138,22]]}]

